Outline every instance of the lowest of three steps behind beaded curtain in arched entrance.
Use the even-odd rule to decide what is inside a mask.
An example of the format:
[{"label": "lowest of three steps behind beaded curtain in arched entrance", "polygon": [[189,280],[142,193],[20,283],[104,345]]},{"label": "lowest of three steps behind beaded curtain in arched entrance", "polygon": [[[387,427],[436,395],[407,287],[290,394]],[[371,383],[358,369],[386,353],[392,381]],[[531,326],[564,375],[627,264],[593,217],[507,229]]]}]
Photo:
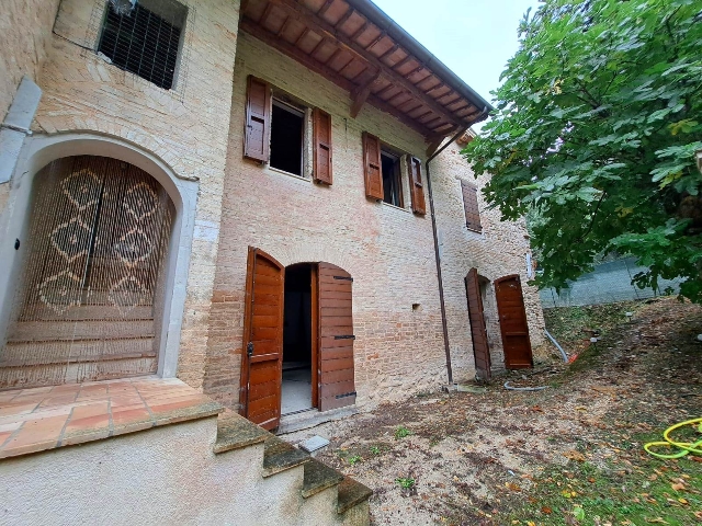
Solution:
[{"label": "lowest of three steps behind beaded curtain in arched entrance", "polygon": [[157,367],[156,356],[34,367],[0,366],[0,389],[23,389],[154,375]]}]

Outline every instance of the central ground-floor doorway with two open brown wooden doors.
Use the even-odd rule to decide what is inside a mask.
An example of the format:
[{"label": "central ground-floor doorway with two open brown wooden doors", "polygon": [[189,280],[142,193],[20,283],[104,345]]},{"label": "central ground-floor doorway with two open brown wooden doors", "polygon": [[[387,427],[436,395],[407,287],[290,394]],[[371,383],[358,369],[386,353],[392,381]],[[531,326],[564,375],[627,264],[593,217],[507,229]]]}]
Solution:
[{"label": "central ground-floor doorway with two open brown wooden doors", "polygon": [[355,403],[352,288],[336,265],[284,267],[249,247],[241,414],[273,430],[284,414]]}]

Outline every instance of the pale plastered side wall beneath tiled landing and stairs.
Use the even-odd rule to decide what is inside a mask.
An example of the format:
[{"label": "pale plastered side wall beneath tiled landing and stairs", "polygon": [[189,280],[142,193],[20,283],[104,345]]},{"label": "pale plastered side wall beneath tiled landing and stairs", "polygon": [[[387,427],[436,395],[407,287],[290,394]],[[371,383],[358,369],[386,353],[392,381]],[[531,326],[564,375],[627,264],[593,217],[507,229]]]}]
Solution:
[{"label": "pale plastered side wall beneath tiled landing and stairs", "polygon": [[304,500],[302,466],[263,478],[263,444],[215,455],[216,428],[203,419],[4,459],[0,523],[363,524],[363,506],[337,514],[336,488]]}]

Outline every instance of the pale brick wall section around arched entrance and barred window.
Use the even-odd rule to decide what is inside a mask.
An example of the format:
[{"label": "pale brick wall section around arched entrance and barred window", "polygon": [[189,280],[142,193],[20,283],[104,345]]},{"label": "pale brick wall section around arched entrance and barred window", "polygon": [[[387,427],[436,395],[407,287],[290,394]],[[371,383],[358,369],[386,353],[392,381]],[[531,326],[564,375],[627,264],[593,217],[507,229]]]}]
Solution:
[{"label": "pale brick wall section around arched entrance and barred window", "polygon": [[[19,2],[18,2],[19,3]],[[184,52],[176,89],[166,91],[102,60],[94,20],[104,2],[64,0],[39,76],[35,134],[91,132],[127,140],[179,176],[199,178],[179,377],[201,387],[219,231],[229,129],[238,0],[186,0]],[[50,28],[45,28],[50,35]],[[4,50],[3,50],[4,55]],[[183,72],[186,71],[186,78]],[[182,286],[180,284],[179,286]]]}]

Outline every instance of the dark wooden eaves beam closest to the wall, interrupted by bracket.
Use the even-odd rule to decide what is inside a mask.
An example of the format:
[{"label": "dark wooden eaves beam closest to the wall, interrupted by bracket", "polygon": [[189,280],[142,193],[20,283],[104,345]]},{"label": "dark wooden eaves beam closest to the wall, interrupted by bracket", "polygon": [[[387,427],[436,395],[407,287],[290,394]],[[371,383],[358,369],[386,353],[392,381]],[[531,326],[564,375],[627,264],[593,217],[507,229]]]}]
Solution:
[{"label": "dark wooden eaves beam closest to the wall, interrupted by bracket", "polygon": [[[312,71],[315,71],[318,75],[321,75],[322,77],[325,77],[327,79],[329,79],[331,82],[333,82],[335,84],[339,85],[340,88],[347,90],[348,92],[351,92],[356,88],[356,84],[351,82],[346,77],[342,77],[341,75],[339,75],[337,71],[331,69],[329,66],[325,66],[324,64],[321,64],[320,61],[318,61],[317,59],[315,59],[310,55],[307,55],[305,52],[303,52],[302,49],[299,49],[295,45],[290,44],[287,41],[276,37],[275,34],[271,33],[270,31],[265,30],[264,27],[261,27],[256,21],[249,19],[248,16],[245,16],[245,18],[242,18],[240,20],[239,27],[245,33],[250,34],[253,37],[258,38],[259,41],[263,42],[264,44],[268,44],[272,48],[278,49],[283,55],[287,55],[288,57],[294,58],[295,60],[301,62],[306,68],[310,69]],[[431,129],[427,128],[426,126],[422,126],[421,123],[418,123],[417,121],[408,117],[404,113],[397,111],[395,107],[393,107],[392,105],[387,104],[382,99],[378,99],[377,96],[374,96],[373,93],[369,94],[367,102],[373,104],[378,110],[381,110],[381,111],[383,111],[385,113],[389,113],[395,118],[397,118],[399,122],[401,122],[403,124],[407,125],[408,127],[417,130],[422,136],[428,137],[428,136],[432,135]]]}]

